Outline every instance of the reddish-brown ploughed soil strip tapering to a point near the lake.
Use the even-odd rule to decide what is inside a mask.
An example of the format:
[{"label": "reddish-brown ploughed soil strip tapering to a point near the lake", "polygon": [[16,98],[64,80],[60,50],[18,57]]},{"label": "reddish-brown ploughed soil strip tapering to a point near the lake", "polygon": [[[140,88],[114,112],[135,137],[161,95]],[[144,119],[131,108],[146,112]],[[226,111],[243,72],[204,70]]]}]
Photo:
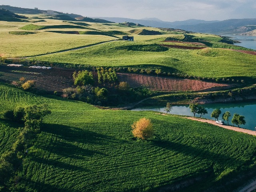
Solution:
[{"label": "reddish-brown ploughed soil strip tapering to a point near the lake", "polygon": [[157,91],[216,91],[235,87],[236,84],[218,84],[200,80],[156,77],[142,74],[118,73],[120,82],[128,82],[132,88],[147,87]]}]

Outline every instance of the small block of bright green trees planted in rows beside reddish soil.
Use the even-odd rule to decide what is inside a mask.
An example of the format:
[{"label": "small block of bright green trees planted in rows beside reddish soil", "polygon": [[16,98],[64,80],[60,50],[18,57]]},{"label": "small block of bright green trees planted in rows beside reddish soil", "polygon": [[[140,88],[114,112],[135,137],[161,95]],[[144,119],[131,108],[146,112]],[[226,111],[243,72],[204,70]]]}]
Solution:
[{"label": "small block of bright green trees planted in rows beside reddish soil", "polygon": [[116,76],[116,72],[114,69],[109,68],[109,69],[105,69],[103,67],[101,68],[96,68],[97,74],[98,74],[98,83],[114,83],[117,81],[117,76]]}]

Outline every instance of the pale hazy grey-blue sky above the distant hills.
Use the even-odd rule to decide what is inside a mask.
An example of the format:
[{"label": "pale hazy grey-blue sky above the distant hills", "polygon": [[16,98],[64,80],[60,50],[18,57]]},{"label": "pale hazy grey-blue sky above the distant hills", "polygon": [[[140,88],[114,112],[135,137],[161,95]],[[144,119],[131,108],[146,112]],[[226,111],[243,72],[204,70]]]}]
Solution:
[{"label": "pale hazy grey-blue sky above the distant hills", "polygon": [[256,18],[256,0],[0,0],[0,4],[88,17],[155,17],[164,21]]}]

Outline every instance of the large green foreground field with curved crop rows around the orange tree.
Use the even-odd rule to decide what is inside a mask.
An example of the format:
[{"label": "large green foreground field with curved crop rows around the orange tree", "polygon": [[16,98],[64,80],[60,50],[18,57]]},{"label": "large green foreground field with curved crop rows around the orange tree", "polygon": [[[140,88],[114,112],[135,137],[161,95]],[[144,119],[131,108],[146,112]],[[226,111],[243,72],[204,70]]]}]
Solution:
[{"label": "large green foreground field with curved crop rows around the orange tree", "polygon": [[[227,191],[230,186],[214,186],[255,167],[256,140],[248,134],[175,115],[101,110],[5,84],[0,91],[1,111],[42,103],[52,111],[28,149],[16,190],[154,191],[192,181],[182,191]],[[131,125],[142,117],[153,123],[151,140],[132,136]],[[3,119],[1,124],[0,153],[15,142],[22,126]]]}]

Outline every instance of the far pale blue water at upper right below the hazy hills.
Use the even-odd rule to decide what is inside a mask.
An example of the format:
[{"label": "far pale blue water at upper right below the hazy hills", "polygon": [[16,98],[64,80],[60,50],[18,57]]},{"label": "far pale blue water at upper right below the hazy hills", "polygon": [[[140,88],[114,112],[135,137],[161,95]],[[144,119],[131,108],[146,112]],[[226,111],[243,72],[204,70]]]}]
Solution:
[{"label": "far pale blue water at upper right below the hazy hills", "polygon": [[227,35],[232,37],[232,40],[240,41],[241,43],[236,43],[235,45],[250,48],[256,50],[256,36],[237,36],[237,35]]}]

